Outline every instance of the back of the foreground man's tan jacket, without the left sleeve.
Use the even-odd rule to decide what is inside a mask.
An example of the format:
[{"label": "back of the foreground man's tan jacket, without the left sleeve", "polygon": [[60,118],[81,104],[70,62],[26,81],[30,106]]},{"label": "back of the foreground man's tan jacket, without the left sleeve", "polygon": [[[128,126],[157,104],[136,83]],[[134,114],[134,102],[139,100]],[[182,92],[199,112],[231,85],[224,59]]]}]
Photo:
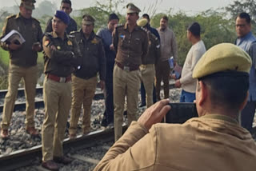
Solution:
[{"label": "back of the foreground man's tan jacket, without the left sleeve", "polygon": [[250,133],[238,123],[214,118],[218,116],[194,118],[183,125],[155,125],[150,133],[156,141],[154,170],[256,168],[256,145]]}]

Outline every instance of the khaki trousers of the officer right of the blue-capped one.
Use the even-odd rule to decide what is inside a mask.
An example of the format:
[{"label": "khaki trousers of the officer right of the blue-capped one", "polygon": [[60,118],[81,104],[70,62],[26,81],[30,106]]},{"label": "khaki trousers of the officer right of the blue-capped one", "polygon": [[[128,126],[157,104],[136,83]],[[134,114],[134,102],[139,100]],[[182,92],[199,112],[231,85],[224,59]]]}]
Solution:
[{"label": "khaki trousers of the officer right of the blue-capped one", "polygon": [[82,116],[82,129],[83,133],[90,131],[90,109],[94,99],[95,89],[97,85],[97,77],[90,79],[82,79],[72,76],[72,108],[70,117],[70,134],[75,134],[78,127],[78,120],[81,114],[83,105]]}]

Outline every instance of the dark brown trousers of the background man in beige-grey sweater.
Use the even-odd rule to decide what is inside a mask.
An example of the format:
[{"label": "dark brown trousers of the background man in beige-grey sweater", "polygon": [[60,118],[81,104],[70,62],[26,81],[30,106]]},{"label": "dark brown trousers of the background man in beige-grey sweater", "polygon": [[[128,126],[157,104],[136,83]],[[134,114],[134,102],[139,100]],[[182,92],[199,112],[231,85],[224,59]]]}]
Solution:
[{"label": "dark brown trousers of the background man in beige-grey sweater", "polygon": [[165,94],[165,98],[169,98],[169,77],[170,77],[170,66],[168,60],[165,62],[161,62],[158,60],[155,70],[155,89],[157,100],[161,100],[160,97],[160,89],[161,89],[161,82],[163,82],[163,91]]}]

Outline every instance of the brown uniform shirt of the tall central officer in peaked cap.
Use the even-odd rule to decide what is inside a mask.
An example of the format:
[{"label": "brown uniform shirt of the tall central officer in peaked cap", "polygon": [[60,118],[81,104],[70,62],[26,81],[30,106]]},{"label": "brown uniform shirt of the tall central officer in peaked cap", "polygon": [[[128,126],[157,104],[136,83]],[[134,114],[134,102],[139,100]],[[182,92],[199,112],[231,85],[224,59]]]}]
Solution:
[{"label": "brown uniform shirt of the tall central officer in peaked cap", "polygon": [[115,61],[123,66],[140,66],[148,52],[148,40],[146,31],[139,26],[135,26],[131,33],[127,23],[116,27],[113,32],[113,44],[117,52]]}]

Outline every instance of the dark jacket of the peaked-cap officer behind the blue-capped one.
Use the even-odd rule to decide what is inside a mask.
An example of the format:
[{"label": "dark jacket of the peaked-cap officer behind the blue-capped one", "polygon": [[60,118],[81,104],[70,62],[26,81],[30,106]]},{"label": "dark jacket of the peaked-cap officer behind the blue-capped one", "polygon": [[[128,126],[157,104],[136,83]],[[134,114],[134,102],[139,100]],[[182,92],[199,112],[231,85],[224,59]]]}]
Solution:
[{"label": "dark jacket of the peaked-cap officer behind the blue-capped one", "polygon": [[106,79],[106,58],[102,45],[102,39],[94,34],[90,34],[88,39],[85,38],[82,30],[71,32],[70,35],[75,37],[82,53],[82,65],[80,70],[76,70],[74,75],[78,78],[89,79],[99,73],[102,81]]}]

